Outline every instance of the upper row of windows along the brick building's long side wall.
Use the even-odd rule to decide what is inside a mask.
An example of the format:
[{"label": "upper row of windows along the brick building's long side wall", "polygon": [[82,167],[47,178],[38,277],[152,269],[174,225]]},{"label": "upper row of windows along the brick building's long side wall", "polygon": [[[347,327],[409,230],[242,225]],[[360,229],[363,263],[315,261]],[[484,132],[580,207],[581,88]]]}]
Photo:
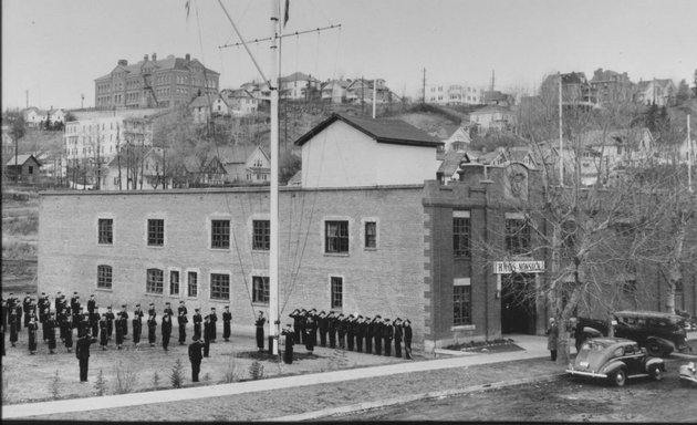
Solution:
[{"label": "upper row of windows along the brick building's long side wall", "polygon": [[[327,253],[348,253],[348,221],[325,221],[324,251]],[[377,248],[377,222],[365,221],[364,248]],[[271,241],[271,222],[269,220],[252,220],[252,249],[268,251]],[[97,220],[97,242],[100,245],[114,243],[114,219],[100,218]],[[149,218],[147,220],[147,246],[163,247],[165,245],[165,220]],[[210,220],[210,248],[230,249],[230,220]]]}]

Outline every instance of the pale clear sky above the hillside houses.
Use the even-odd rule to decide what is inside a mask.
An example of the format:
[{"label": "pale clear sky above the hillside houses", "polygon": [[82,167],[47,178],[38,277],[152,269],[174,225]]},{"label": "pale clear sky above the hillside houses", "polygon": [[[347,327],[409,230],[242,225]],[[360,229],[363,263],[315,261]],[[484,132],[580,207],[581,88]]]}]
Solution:
[{"label": "pale clear sky above the hillside houses", "polygon": [[[220,89],[260,80],[218,0],[2,0],[2,108],[94,106],[119,59],[190,53]],[[221,0],[242,37],[270,34],[269,0]],[[282,3],[284,3],[282,1]],[[633,81],[697,69],[697,0],[290,0],[281,74],[385,79],[398,95],[461,83],[532,92],[544,75],[603,68]],[[268,43],[251,43],[269,69]],[[268,76],[268,71],[264,71]]]}]

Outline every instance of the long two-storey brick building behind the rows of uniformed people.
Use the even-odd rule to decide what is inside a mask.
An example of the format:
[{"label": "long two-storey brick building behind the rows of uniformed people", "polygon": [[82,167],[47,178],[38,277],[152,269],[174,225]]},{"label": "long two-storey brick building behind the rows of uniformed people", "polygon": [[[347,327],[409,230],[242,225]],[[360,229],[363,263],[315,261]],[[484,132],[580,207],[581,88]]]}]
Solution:
[{"label": "long two-storey brick building behind the rows of uniformed people", "polygon": [[[399,121],[335,114],[297,144],[301,185],[279,194],[281,323],[295,308],[408,318],[426,351],[543,334],[545,298],[509,292],[545,279],[544,255],[517,257],[538,243],[517,207],[539,196],[538,172],[455,164],[446,184],[440,142]],[[268,313],[269,229],[268,187],[43,193],[39,290],[128,309],[229,304],[233,329],[251,332]],[[682,302],[694,312],[694,282]]]}]

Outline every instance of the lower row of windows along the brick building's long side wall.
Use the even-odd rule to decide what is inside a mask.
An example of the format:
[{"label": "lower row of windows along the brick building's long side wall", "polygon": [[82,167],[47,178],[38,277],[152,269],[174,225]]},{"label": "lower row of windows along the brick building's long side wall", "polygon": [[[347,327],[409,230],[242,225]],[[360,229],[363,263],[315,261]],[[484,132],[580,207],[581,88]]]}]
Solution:
[{"label": "lower row of windows along the brick building's long side wall", "polygon": [[[97,289],[113,289],[114,270],[112,266],[97,266]],[[230,301],[230,274],[229,273],[210,273],[210,299],[220,301]],[[252,302],[260,304],[269,303],[269,277],[252,276]],[[180,296],[180,272],[179,270],[169,270],[168,281],[169,296]],[[186,272],[186,297],[197,298],[199,290],[199,279],[197,271]],[[343,278],[330,278],[331,308],[341,309],[343,307]],[[165,271],[157,268],[146,270],[145,292],[150,294],[165,294]]]}]

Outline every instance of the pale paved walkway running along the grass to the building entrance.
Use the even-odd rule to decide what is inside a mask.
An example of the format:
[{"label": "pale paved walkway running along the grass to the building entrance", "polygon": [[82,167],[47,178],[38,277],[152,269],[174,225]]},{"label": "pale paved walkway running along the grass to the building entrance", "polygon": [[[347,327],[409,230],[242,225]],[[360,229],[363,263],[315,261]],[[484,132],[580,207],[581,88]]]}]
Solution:
[{"label": "pale paved walkway running along the grass to the building entrance", "polygon": [[351,369],[343,371],[294,375],[231,384],[196,386],[180,390],[164,390],[90,398],[74,398],[43,403],[7,405],[2,407],[2,418],[22,418],[35,415],[86,412],[164,402],[180,402],[187,400],[219,397],[227,395],[253,393],[259,391],[281,390],[305,385],[353,381],[408,372],[424,372],[450,367],[471,366],[477,364],[508,362],[522,359],[535,359],[549,355],[549,352],[547,351],[547,339],[544,336],[514,335],[513,340],[516,341],[517,345],[523,349],[523,351],[470,354],[437,360],[404,362],[398,364],[373,367]]}]

